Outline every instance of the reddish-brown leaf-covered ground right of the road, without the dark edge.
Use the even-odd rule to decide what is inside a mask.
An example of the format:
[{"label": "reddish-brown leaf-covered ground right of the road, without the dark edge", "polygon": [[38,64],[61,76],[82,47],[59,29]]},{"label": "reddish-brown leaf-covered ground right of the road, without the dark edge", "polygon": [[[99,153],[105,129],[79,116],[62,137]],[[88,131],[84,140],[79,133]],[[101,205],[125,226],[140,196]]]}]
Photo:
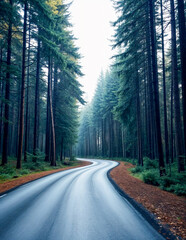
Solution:
[{"label": "reddish-brown leaf-covered ground right of the road, without the dark edge", "polygon": [[129,172],[132,167],[134,166],[131,163],[120,162],[120,165],[110,172],[110,176],[126,194],[153,213],[174,235],[186,239],[186,198],[133,177]]}]

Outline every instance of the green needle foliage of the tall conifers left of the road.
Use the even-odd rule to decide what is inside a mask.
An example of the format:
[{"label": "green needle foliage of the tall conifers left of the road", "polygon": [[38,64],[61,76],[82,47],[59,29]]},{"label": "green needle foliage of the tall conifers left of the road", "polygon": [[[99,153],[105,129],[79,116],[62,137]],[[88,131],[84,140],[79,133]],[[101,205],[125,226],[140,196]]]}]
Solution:
[{"label": "green needle foliage of the tall conifers left of the road", "polygon": [[[19,113],[20,113],[20,90],[22,77],[22,52],[23,52],[23,17],[24,17],[25,1],[18,0],[0,2],[0,108],[4,108],[5,99],[5,77],[7,71],[7,34],[8,27],[12,25],[12,41],[11,41],[11,66],[8,71],[11,74],[10,86],[10,113],[9,123],[14,129],[13,133],[18,131]],[[25,105],[28,112],[26,121],[28,122],[29,131],[25,136],[28,137],[26,146],[27,157],[29,160],[41,161],[44,154],[40,149],[44,149],[44,142],[38,141],[36,154],[33,151],[32,134],[34,132],[34,120],[39,118],[37,128],[37,138],[44,136],[46,131],[47,119],[47,67],[49,59],[51,61],[52,80],[52,108],[54,115],[54,128],[56,137],[56,158],[60,155],[61,148],[66,153],[72,148],[77,141],[78,129],[78,101],[84,104],[82,98],[83,91],[81,84],[77,78],[82,76],[81,66],[79,65],[79,49],[75,46],[75,37],[69,22],[69,6],[64,1],[48,1],[48,0],[31,0],[28,1],[27,11],[27,53],[26,53],[26,78],[25,78]],[[40,48],[38,43],[40,42]],[[39,49],[39,50],[38,50]],[[38,76],[37,76],[38,73]],[[36,77],[39,79],[36,88]],[[54,86],[55,85],[55,86]],[[38,110],[34,112],[36,89],[38,90]],[[56,90],[57,89],[57,90]],[[28,95],[28,96],[27,96]],[[27,109],[27,108],[26,108]],[[38,117],[36,116],[38,115]],[[28,120],[28,121],[27,121]],[[3,116],[3,121],[5,118]],[[2,128],[3,123],[0,121]],[[36,124],[37,125],[37,124]],[[10,127],[10,126],[9,126]],[[25,128],[26,129],[26,128]],[[11,145],[10,152],[15,155],[18,140],[16,135],[8,143]],[[51,142],[51,138],[49,139]],[[63,146],[61,142],[63,141]],[[2,148],[2,141],[1,148]],[[42,145],[42,146],[41,146]],[[24,151],[24,149],[23,149]],[[32,170],[37,170],[38,166],[30,166]],[[45,169],[45,167],[42,167]]]}]

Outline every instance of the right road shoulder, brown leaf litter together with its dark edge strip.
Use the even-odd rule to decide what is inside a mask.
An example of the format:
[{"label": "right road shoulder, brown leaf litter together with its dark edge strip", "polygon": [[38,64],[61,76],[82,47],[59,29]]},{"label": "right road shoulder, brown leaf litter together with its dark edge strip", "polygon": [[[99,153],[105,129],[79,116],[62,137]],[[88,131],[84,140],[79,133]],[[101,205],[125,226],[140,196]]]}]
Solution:
[{"label": "right road shoulder, brown leaf litter together with its dark edge strip", "polygon": [[128,171],[131,167],[130,163],[120,162],[108,173],[117,191],[166,239],[186,239],[185,198],[134,178]]}]

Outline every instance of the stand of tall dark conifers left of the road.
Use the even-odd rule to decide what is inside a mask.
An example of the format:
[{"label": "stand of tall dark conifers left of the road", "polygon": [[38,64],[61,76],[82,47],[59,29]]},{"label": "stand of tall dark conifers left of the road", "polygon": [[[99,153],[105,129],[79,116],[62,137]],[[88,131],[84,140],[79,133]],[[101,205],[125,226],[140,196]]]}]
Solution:
[{"label": "stand of tall dark conifers left of the road", "polygon": [[61,0],[0,1],[0,155],[70,156],[77,139],[78,49]]}]

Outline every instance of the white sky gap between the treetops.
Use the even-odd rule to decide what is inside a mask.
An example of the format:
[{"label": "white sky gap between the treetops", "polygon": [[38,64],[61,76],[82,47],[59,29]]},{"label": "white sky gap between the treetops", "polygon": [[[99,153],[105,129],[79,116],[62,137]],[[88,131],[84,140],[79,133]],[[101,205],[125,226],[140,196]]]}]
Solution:
[{"label": "white sky gap between the treetops", "polygon": [[84,99],[91,101],[101,71],[112,63],[111,49],[113,27],[116,19],[111,0],[73,0],[69,8],[76,46],[83,56],[80,61],[84,77],[79,81],[85,92]]}]

